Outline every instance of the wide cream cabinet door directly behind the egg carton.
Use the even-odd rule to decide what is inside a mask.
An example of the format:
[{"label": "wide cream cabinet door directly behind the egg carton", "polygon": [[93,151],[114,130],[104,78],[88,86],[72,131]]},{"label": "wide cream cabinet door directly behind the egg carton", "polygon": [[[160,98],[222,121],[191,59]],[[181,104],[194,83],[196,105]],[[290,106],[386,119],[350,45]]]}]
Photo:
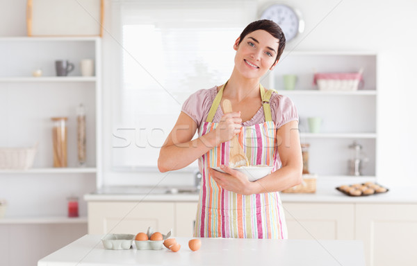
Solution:
[{"label": "wide cream cabinet door directly behind the egg carton", "polygon": [[148,227],[161,233],[174,230],[174,203],[88,202],[88,233],[136,234]]}]

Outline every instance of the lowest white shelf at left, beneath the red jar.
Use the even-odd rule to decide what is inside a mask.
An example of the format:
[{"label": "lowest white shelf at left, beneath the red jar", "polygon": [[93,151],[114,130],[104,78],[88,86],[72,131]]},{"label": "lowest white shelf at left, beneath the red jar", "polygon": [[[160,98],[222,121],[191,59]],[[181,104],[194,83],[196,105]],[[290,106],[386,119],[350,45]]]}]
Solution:
[{"label": "lowest white shelf at left, beneath the red jar", "polygon": [[5,217],[0,224],[86,224],[87,217],[68,218],[65,216]]}]

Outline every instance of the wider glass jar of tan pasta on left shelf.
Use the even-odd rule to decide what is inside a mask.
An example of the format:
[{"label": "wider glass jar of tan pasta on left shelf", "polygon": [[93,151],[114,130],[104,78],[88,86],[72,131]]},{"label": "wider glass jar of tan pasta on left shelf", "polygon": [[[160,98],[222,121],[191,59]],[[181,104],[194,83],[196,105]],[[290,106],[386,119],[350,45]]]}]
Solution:
[{"label": "wider glass jar of tan pasta on left shelf", "polygon": [[67,167],[67,117],[53,117],[54,167]]}]

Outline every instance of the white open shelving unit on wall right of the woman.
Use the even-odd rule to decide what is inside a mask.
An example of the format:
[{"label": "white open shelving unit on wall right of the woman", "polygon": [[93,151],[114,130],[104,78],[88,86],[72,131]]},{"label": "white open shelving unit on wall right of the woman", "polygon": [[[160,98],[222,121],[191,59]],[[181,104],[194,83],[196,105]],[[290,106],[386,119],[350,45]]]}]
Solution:
[{"label": "white open shelving unit on wall right of the woman", "polygon": [[[313,74],[358,72],[357,91],[323,91],[313,85]],[[297,75],[294,90],[285,90],[283,76]],[[348,161],[354,141],[362,146],[361,174],[377,179],[377,54],[359,52],[289,51],[265,76],[265,85],[291,98],[300,116],[302,143],[309,143],[309,170],[318,176],[350,175]],[[320,117],[320,132],[309,132],[307,118]]]}]

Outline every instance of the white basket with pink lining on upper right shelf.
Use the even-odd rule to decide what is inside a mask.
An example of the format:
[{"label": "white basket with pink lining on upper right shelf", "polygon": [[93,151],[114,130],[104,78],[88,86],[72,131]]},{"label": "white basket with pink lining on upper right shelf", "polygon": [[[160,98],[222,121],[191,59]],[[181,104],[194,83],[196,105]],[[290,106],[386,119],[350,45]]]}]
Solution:
[{"label": "white basket with pink lining on upper right shelf", "polygon": [[320,91],[357,91],[362,80],[362,69],[357,73],[316,73],[313,84]]}]

